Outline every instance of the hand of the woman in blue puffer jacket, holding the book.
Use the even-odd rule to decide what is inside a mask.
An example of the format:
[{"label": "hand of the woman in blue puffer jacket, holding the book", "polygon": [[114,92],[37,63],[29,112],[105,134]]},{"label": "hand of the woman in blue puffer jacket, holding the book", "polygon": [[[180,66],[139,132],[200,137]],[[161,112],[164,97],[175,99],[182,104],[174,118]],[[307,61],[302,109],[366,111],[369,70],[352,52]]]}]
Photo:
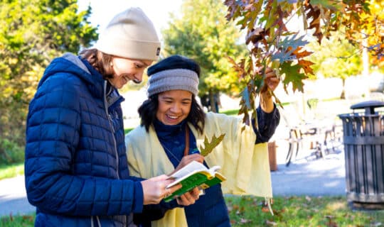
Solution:
[{"label": "hand of the woman in blue puffer jacket, holding the book", "polygon": [[174,182],[174,179],[168,179],[167,175],[160,175],[142,181],[144,194],[143,204],[159,204],[161,199],[164,199],[164,197],[169,196],[181,188],[181,184],[176,184],[175,186],[166,189],[166,186],[171,184],[171,182]]}]

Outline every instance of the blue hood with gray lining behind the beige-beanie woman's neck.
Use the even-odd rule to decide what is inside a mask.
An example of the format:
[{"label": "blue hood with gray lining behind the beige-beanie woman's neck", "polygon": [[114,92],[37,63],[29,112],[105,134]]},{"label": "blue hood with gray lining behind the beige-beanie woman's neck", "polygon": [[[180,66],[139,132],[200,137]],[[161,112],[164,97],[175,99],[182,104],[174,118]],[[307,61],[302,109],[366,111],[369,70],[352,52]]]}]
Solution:
[{"label": "blue hood with gray lining behind the beige-beanie woman's neck", "polygon": [[90,88],[90,92],[95,96],[102,96],[103,86],[105,79],[96,70],[92,69],[92,66],[87,64],[86,61],[80,60],[80,58],[72,53],[65,53],[62,57],[55,58],[50,65],[46,68],[46,71],[38,84],[41,86],[46,80],[53,74],[64,73],[73,74],[76,77],[82,79]]}]

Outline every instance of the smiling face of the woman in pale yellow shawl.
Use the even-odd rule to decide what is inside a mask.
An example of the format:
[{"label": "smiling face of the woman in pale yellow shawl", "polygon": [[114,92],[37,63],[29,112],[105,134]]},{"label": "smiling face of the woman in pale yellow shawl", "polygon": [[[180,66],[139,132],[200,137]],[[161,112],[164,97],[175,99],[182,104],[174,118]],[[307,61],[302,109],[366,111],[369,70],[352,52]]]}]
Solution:
[{"label": "smiling face of the woman in pale yellow shawl", "polygon": [[171,90],[159,94],[159,106],[156,118],[164,125],[173,126],[185,118],[191,111],[192,93],[184,90]]}]

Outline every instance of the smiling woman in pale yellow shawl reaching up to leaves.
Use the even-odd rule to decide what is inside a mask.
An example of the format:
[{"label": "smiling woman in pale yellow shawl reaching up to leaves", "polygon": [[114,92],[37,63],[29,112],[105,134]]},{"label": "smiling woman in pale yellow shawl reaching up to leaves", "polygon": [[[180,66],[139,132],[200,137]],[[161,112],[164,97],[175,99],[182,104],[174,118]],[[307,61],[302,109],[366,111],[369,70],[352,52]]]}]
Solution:
[{"label": "smiling woman in pale yellow shawl reaching up to leaves", "polygon": [[[270,95],[279,79],[267,69],[266,87],[257,108],[257,130],[240,118],[203,112],[195,99],[200,72],[196,62],[179,55],[149,67],[149,99],[139,107],[141,126],[126,135],[129,171],[137,177],[171,172],[191,156],[188,154],[196,153],[205,136],[210,139],[225,133],[204,164],[220,165],[227,180],[206,189],[191,206],[171,209],[160,204],[157,208],[164,218],[152,221],[152,226],[230,226],[223,192],[272,197],[265,142],[279,123],[279,111]],[[154,213],[146,213],[146,219]]]}]

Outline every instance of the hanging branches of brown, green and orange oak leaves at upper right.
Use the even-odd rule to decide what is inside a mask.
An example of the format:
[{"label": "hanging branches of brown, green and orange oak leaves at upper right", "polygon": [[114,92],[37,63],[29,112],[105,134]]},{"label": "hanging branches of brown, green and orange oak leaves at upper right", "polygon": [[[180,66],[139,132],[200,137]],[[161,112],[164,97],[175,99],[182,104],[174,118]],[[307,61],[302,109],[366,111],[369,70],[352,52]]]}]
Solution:
[{"label": "hanging branches of brown, green and orange oak leaves at upper right", "polygon": [[[313,52],[306,50],[306,35],[289,31],[287,22],[302,18],[304,30],[321,43],[332,31],[343,29],[351,43],[368,39],[370,54],[383,60],[383,2],[377,0],[226,0],[228,21],[238,21],[247,33],[249,57],[234,65],[247,86],[242,92],[239,114],[255,115],[257,94],[265,89],[265,68],[272,67],[282,79],[284,89],[304,92],[303,80],[313,74]],[[378,7],[377,9],[375,7]],[[376,10],[373,11],[373,8]],[[277,99],[278,100],[278,99]],[[278,101],[279,102],[279,101]]]}]

